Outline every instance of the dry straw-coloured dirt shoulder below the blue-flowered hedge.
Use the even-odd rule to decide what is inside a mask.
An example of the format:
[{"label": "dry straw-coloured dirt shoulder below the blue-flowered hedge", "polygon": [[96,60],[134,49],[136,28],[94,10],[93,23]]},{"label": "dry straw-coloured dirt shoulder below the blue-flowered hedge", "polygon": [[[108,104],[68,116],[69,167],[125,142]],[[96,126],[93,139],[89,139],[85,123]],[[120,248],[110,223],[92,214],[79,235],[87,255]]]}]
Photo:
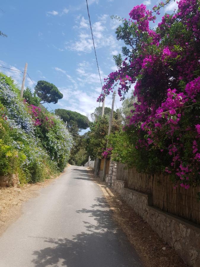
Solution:
[{"label": "dry straw-coloured dirt shoulder below the blue-flowered hedge", "polygon": [[65,174],[66,171],[67,168],[56,178],[36,184],[27,184],[20,187],[0,187],[0,235],[20,217],[23,202],[36,197],[39,194],[39,189],[49,185]]}]

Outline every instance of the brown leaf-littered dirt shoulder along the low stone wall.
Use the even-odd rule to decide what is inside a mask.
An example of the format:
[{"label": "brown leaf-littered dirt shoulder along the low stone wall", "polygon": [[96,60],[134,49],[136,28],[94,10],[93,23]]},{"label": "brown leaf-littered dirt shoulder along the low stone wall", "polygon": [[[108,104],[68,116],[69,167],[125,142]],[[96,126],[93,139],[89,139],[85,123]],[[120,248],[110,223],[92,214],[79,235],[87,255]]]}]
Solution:
[{"label": "brown leaf-littered dirt shoulder along the low stone wall", "polygon": [[148,267],[185,267],[183,260],[150,228],[148,223],[131,209],[111,187],[99,179],[94,181],[101,187],[113,211],[113,219],[119,224],[134,246],[138,255]]}]

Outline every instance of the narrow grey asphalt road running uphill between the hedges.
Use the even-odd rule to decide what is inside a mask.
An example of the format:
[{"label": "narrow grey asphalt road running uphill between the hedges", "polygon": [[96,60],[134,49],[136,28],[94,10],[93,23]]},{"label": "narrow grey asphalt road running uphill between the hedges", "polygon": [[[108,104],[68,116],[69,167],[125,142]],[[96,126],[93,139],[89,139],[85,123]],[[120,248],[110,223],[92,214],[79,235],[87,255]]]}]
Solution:
[{"label": "narrow grey asphalt road running uphill between the hedges", "polygon": [[0,266],[142,266],[86,167],[71,166],[0,236]]}]

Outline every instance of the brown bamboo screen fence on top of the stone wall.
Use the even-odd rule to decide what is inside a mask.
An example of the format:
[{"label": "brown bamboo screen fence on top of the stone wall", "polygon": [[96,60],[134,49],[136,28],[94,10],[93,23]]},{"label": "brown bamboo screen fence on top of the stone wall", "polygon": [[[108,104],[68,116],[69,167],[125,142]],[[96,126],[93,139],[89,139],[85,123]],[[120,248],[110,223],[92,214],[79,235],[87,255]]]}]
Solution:
[{"label": "brown bamboo screen fence on top of the stone wall", "polygon": [[184,189],[179,186],[174,189],[173,182],[164,173],[151,176],[138,173],[135,168],[124,167],[122,163],[117,164],[116,178],[127,181],[129,189],[151,194],[154,207],[200,224],[200,201],[197,195],[200,187]]}]

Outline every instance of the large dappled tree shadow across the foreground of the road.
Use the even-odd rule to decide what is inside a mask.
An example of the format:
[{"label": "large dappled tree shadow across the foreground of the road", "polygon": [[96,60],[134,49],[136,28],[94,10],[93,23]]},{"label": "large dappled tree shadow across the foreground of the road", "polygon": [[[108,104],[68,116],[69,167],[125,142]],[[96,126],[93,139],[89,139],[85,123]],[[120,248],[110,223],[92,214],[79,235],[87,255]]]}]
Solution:
[{"label": "large dappled tree shadow across the foreground of the road", "polygon": [[44,239],[48,246],[33,252],[34,266],[142,266],[124,233],[113,223],[105,198],[95,198],[95,201],[91,209],[76,211],[93,217],[94,223],[83,221],[85,231],[72,239]]}]

